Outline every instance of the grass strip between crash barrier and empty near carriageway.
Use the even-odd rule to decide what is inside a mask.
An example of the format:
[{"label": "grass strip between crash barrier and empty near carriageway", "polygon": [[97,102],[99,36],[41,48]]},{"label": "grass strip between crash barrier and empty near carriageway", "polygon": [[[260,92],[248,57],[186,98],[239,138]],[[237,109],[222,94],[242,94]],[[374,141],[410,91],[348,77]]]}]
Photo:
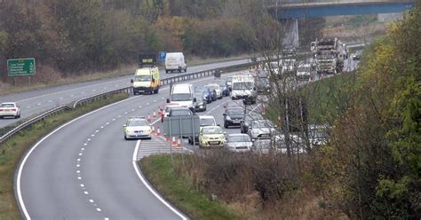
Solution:
[{"label": "grass strip between crash barrier and empty near carriageway", "polygon": [[101,99],[86,106],[53,115],[0,144],[0,219],[20,219],[21,217],[14,197],[14,171],[20,158],[32,145],[35,145],[36,141],[65,122],[124,98],[127,98],[127,94],[116,94],[111,98]]}]

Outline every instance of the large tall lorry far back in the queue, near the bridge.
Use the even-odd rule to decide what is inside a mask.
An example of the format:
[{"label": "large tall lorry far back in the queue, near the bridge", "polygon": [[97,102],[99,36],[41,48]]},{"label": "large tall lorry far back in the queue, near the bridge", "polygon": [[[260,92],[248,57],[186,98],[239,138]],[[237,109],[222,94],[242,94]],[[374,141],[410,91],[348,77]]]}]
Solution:
[{"label": "large tall lorry far back in the queue, near the bridge", "polygon": [[310,51],[314,55],[317,74],[339,74],[344,68],[348,58],[346,45],[338,38],[316,39],[310,45]]}]

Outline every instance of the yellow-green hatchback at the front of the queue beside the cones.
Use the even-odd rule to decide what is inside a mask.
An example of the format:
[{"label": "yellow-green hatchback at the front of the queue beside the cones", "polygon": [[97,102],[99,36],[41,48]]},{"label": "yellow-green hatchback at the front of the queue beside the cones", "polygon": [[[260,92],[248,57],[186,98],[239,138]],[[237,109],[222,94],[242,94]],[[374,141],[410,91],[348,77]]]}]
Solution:
[{"label": "yellow-green hatchback at the front of the queue beside the cones", "polygon": [[203,127],[199,133],[199,147],[212,147],[224,145],[225,132],[219,126]]}]

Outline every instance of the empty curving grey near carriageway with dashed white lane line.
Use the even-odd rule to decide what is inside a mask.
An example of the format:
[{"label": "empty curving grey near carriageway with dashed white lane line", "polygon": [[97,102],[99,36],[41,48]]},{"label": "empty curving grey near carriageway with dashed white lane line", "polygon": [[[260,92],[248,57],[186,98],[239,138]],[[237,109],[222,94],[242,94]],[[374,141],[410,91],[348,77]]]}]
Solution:
[{"label": "empty curving grey near carriageway with dashed white lane line", "polygon": [[[212,80],[203,78],[193,82]],[[16,179],[25,216],[34,219],[184,218],[143,184],[141,174],[133,166],[139,142],[123,139],[123,123],[129,116],[152,114],[164,105],[168,96],[168,86],[164,86],[159,94],[128,98],[77,118],[37,143],[24,158]],[[221,117],[221,104],[226,100],[213,102],[208,111]]]}]

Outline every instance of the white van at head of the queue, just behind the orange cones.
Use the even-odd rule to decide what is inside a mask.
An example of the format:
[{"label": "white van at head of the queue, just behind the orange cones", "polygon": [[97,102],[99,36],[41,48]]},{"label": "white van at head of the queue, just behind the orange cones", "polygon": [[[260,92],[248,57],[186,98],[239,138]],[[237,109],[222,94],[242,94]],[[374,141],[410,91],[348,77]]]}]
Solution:
[{"label": "white van at head of the queue, just behind the orange cones", "polygon": [[171,88],[170,98],[167,98],[167,103],[179,105],[181,107],[188,107],[190,110],[195,108],[195,87],[193,84],[176,84]]}]

